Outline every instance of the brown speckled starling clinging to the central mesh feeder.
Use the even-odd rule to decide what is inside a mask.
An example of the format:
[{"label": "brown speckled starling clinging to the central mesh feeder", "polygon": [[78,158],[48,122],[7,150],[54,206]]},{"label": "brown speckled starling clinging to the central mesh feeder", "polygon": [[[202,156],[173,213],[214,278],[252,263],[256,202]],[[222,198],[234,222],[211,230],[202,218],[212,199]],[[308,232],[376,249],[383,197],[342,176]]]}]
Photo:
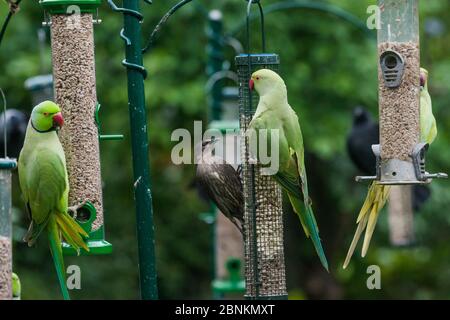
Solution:
[{"label": "brown speckled starling clinging to the central mesh feeder", "polygon": [[213,155],[218,139],[202,142],[202,155],[197,165],[196,182],[203,194],[217,206],[242,233],[244,225],[244,194],[241,178],[232,165]]}]

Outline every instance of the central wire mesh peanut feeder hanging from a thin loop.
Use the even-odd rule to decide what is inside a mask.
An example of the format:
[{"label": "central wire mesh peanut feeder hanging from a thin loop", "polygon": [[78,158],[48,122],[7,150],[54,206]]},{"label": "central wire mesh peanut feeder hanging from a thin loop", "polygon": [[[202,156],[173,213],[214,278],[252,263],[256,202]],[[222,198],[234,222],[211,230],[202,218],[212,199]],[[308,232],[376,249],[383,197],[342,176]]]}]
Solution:
[{"label": "central wire mesh peanut feeder hanging from a thin loop", "polygon": [[248,86],[251,74],[259,69],[278,71],[276,54],[251,54],[250,9],[257,4],[261,14],[262,44],[265,52],[264,15],[259,1],[247,6],[247,54],[236,57],[239,81],[239,119],[244,188],[245,283],[248,299],[287,299],[284,261],[283,209],[281,188],[271,176],[263,175],[259,164],[250,161],[249,123],[256,111],[258,97]]}]

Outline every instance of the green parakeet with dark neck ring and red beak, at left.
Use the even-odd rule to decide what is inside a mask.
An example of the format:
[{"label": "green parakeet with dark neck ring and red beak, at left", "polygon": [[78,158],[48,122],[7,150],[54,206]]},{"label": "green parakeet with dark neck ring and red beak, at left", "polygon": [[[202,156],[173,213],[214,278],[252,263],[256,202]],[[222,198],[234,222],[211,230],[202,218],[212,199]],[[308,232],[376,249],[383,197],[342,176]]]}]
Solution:
[{"label": "green parakeet with dark neck ring and red beak, at left", "polygon": [[86,232],[67,213],[69,182],[66,159],[56,130],[63,125],[59,106],[45,101],[34,107],[20,152],[18,170],[22,195],[32,222],[24,241],[32,246],[45,230],[64,299],[66,287],[61,235],[77,251],[88,251]]}]

